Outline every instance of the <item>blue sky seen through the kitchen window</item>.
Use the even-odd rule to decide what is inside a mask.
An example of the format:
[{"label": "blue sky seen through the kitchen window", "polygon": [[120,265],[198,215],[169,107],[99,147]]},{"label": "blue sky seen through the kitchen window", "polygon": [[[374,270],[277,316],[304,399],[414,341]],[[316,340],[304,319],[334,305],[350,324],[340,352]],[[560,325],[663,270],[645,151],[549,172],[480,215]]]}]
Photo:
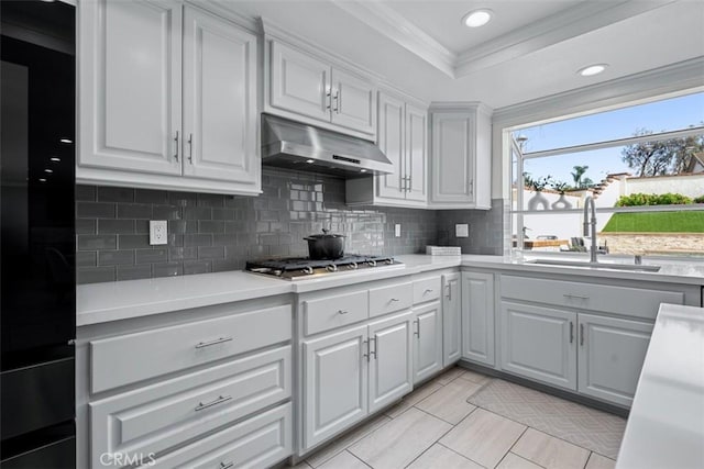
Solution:
[{"label": "blue sky seen through the kitchen window", "polygon": [[[640,129],[662,132],[691,125],[704,125],[704,92],[522,129],[514,135],[528,137],[525,148],[526,153],[530,153],[628,137]],[[527,159],[524,170],[534,178],[550,175],[568,183],[573,181],[570,172],[578,165],[588,166],[584,177],[594,182],[601,181],[609,172],[635,174],[622,160],[622,148]]]}]

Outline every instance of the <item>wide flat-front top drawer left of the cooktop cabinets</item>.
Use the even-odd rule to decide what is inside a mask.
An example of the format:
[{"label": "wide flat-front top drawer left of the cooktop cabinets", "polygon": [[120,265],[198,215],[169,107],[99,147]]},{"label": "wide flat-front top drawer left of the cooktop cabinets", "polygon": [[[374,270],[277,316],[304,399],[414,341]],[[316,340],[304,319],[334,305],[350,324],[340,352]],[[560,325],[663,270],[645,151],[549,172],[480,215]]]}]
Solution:
[{"label": "wide flat-front top drawer left of the cooktop cabinets", "polygon": [[90,342],[90,390],[106,391],[292,337],[290,305]]}]

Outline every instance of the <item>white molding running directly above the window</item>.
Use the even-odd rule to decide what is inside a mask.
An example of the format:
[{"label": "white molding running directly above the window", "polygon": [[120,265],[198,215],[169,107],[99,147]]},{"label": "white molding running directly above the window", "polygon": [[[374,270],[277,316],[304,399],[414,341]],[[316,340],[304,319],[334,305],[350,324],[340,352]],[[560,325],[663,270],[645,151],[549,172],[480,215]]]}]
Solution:
[{"label": "white molding running directly above the window", "polygon": [[704,56],[499,108],[493,123],[498,129],[536,125],[690,90],[704,90]]}]

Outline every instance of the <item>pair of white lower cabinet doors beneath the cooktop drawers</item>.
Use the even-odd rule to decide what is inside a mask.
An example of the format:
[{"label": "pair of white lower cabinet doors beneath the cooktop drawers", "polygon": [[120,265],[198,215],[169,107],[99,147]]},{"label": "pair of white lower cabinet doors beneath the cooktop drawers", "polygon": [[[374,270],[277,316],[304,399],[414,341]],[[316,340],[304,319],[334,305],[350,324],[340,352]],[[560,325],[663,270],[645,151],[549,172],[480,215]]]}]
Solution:
[{"label": "pair of white lower cabinet doors beneath the cooktop drawers", "polygon": [[406,311],[302,342],[306,449],[413,390]]}]

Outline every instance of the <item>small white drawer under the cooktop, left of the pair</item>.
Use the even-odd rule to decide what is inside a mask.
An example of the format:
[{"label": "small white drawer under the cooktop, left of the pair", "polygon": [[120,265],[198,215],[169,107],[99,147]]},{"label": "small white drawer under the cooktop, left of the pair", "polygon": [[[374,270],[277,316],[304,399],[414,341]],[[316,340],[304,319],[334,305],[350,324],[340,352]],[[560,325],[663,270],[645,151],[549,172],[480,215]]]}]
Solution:
[{"label": "small white drawer under the cooktop, left of the pair", "polygon": [[354,293],[304,301],[306,335],[330,331],[369,317],[369,293]]}]

